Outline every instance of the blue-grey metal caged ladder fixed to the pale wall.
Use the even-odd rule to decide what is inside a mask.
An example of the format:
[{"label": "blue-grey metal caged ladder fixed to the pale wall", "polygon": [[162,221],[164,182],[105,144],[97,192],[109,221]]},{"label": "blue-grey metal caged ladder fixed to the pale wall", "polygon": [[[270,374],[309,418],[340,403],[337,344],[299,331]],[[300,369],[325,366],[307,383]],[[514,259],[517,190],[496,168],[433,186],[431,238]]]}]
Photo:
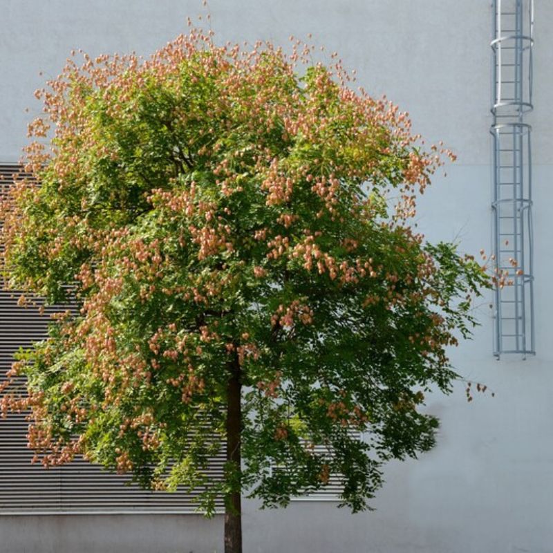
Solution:
[{"label": "blue-grey metal caged ladder fixed to the pale wall", "polygon": [[534,355],[532,104],[534,0],[494,0],[494,355]]}]

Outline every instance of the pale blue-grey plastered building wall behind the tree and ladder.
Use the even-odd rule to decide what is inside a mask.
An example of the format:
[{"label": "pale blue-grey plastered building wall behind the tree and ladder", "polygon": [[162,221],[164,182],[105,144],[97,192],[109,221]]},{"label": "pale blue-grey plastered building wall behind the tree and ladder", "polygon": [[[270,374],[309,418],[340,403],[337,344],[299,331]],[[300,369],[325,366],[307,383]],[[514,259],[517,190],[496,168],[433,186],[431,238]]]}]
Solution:
[{"label": "pale blue-grey plastered building wall behind the tree and ladder", "polygon": [[[359,84],[386,92],[411,113],[415,131],[458,153],[449,176],[420,204],[431,239],[459,237],[490,249],[491,2],[485,0],[210,0],[218,40],[313,33],[338,50]],[[1,3],[0,160],[17,160],[32,91],[54,76],[71,48],[91,54],[149,53],[185,30],[201,11],[192,0],[4,0]],[[350,515],[330,503],[259,511],[245,503],[245,552],[545,553],[553,551],[553,2],[536,0],[534,50],[534,234],[538,355],[497,362],[491,310],[478,308],[474,341],[452,352],[458,371],[486,382],[496,397],[467,404],[462,385],[434,395],[438,447],[420,460],[392,463],[374,513]],[[31,113],[24,113],[25,107]],[[1,469],[1,467],[0,467]],[[0,552],[221,551],[222,519],[194,516],[1,517]]]}]

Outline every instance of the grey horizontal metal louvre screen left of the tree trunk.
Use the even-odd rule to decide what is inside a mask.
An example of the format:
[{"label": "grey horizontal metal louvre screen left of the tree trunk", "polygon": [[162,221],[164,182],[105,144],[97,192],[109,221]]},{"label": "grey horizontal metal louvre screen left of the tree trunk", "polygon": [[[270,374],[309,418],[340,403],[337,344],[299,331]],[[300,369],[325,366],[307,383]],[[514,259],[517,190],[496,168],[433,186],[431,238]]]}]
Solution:
[{"label": "grey horizontal metal louvre screen left of the tree trunk", "polygon": [[[0,192],[21,173],[19,165],[0,165]],[[0,382],[20,346],[46,336],[51,312],[39,315],[35,307],[17,306],[19,294],[0,290]],[[0,418],[0,515],[59,513],[192,513],[198,507],[197,494],[185,489],[173,493],[147,491],[130,484],[128,476],[110,474],[84,460],[44,469],[32,465],[32,452],[26,447],[28,422],[25,415]],[[223,444],[221,444],[223,446]],[[224,448],[212,460],[207,474],[214,480],[223,477]],[[216,502],[218,512],[223,500]]]}]

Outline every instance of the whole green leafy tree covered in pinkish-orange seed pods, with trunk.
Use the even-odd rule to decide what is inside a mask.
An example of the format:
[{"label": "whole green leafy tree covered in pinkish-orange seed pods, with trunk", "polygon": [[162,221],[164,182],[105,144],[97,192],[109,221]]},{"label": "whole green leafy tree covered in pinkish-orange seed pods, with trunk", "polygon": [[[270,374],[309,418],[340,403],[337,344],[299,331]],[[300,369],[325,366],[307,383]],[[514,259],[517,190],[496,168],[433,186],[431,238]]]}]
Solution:
[{"label": "whole green leafy tree covered in pinkish-orange seed pods, with trunk", "polygon": [[202,487],[208,514],[223,494],[227,553],[243,491],[281,506],[339,474],[358,511],[386,461],[432,447],[424,393],[450,391],[447,347],[486,283],[409,226],[450,153],[311,50],[191,30],[148,60],[70,59],[37,91],[40,185],[3,203],[10,288],[78,306],[19,353],[3,411],[32,411],[46,466],[83,454],[146,487]]}]

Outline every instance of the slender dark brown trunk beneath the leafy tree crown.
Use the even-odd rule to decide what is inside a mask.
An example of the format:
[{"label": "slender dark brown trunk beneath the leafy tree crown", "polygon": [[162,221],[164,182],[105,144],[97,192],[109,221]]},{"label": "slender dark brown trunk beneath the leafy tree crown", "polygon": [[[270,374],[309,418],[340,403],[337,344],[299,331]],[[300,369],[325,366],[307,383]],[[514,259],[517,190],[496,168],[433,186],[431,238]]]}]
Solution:
[{"label": "slender dark brown trunk beneath the leafy tree crown", "polygon": [[227,382],[227,462],[234,465],[232,491],[225,497],[225,553],[242,553],[241,426],[242,383],[236,356]]}]

